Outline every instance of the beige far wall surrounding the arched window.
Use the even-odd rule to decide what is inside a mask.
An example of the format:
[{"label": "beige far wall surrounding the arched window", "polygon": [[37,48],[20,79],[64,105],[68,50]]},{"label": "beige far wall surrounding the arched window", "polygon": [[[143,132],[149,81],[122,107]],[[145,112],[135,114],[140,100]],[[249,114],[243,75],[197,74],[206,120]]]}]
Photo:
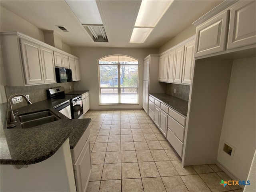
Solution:
[{"label": "beige far wall surrounding the arched window", "polygon": [[[74,83],[74,89],[90,91],[90,109],[142,108],[143,59],[148,54],[157,53],[158,49],[72,48],[72,54],[80,58],[81,71],[81,81]],[[137,105],[99,105],[98,59],[115,54],[127,55],[139,60],[139,104]]]}]

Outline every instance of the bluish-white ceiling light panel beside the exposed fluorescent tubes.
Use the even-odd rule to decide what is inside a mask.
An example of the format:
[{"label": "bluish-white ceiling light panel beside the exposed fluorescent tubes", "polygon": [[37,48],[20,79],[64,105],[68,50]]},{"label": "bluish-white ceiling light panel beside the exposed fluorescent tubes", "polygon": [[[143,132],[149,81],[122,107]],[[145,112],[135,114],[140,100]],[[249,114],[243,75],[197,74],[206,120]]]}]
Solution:
[{"label": "bluish-white ceiling light panel beside the exposed fluorescent tubes", "polygon": [[95,0],[67,0],[66,3],[81,24],[103,24]]}]

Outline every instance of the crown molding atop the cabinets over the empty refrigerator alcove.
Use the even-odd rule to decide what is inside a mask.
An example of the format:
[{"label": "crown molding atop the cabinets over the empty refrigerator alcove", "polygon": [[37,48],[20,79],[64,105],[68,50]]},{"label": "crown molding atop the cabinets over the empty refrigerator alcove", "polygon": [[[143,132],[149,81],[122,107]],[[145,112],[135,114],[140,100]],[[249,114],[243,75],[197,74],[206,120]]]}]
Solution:
[{"label": "crown molding atop the cabinets over the empty refrigerator alcove", "polygon": [[216,6],[215,8],[213,8],[212,10],[210,10],[208,13],[204,14],[202,17],[200,17],[198,20],[196,20],[192,24],[194,26],[198,26],[198,25],[202,24],[203,22],[205,22],[206,20],[212,18],[213,16],[215,16],[222,10],[233,5],[236,2],[238,2],[238,0],[226,0],[226,1],[222,2],[221,4],[219,4],[218,6]]}]

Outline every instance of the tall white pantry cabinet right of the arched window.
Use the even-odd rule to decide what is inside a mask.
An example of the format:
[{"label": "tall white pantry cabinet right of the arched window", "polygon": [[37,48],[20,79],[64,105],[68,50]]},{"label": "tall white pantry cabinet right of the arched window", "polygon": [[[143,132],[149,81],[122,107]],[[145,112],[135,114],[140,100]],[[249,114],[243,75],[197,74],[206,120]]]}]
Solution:
[{"label": "tall white pantry cabinet right of the arched window", "polygon": [[143,63],[142,108],[148,113],[148,94],[165,93],[166,86],[158,82],[159,55],[148,55]]}]

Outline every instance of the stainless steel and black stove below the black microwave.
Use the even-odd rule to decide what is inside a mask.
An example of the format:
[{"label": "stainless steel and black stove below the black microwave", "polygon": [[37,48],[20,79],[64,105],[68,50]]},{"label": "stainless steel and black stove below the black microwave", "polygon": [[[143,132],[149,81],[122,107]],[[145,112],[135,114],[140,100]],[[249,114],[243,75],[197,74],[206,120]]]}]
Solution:
[{"label": "stainless steel and black stove below the black microwave", "polygon": [[[71,111],[71,118],[72,119],[80,119],[83,118],[83,102],[82,102],[82,95],[79,94],[72,94],[68,95],[65,94],[64,87],[57,87],[46,90],[47,98],[48,99],[55,99],[55,100],[68,100],[70,101],[70,111]],[[58,107],[58,106],[57,106]]]}]

